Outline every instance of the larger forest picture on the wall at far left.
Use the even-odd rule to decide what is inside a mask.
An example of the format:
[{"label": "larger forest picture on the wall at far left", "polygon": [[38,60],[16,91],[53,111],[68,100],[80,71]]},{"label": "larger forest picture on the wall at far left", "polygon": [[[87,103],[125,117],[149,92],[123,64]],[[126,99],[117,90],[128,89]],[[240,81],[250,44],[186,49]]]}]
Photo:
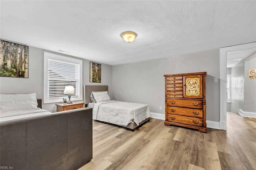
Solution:
[{"label": "larger forest picture on the wall at far left", "polygon": [[28,46],[0,40],[0,76],[28,78]]}]

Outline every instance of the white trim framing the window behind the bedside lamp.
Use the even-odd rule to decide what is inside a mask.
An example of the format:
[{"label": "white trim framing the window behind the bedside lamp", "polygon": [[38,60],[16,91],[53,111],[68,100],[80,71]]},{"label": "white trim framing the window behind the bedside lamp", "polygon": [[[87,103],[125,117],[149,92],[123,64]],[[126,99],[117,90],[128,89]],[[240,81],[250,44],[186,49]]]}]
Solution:
[{"label": "white trim framing the window behind the bedside lamp", "polygon": [[80,96],[79,97],[71,97],[71,101],[80,101],[83,100],[83,61],[80,59],[74,59],[71,57],[66,57],[64,55],[57,55],[54,53],[48,53],[44,51],[44,104],[45,103],[58,103],[63,102],[61,99],[48,99],[48,58],[50,59],[56,59],[60,61],[66,61],[70,63],[76,63],[79,64],[80,67],[78,68],[79,76],[80,76]]}]

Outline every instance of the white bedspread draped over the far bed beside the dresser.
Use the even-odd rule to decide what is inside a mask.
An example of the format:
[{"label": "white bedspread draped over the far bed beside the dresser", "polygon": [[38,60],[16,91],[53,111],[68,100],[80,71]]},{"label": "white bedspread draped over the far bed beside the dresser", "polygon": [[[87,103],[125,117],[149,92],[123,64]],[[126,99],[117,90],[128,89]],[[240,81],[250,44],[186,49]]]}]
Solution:
[{"label": "white bedspread draped over the far bed beside the dresser", "polygon": [[97,102],[93,108],[93,119],[127,126],[134,121],[136,125],[150,117],[148,105],[122,101]]}]

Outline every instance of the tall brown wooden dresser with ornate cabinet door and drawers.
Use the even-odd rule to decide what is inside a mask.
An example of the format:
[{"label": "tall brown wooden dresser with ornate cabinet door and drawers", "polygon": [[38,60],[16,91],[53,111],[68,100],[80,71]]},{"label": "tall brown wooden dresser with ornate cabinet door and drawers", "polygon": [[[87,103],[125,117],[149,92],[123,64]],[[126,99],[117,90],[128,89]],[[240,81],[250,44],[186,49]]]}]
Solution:
[{"label": "tall brown wooden dresser with ornate cabinet door and drawers", "polygon": [[206,133],[206,72],[168,74],[164,77],[164,125],[195,128]]}]

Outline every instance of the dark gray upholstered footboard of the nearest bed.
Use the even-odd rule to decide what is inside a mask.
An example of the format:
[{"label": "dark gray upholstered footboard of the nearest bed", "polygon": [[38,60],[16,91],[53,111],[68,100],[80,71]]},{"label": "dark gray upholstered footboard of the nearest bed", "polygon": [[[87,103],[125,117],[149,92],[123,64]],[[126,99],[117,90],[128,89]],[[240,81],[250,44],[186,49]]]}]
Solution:
[{"label": "dark gray upholstered footboard of the nearest bed", "polygon": [[0,125],[0,166],[73,170],[91,159],[91,108]]}]

